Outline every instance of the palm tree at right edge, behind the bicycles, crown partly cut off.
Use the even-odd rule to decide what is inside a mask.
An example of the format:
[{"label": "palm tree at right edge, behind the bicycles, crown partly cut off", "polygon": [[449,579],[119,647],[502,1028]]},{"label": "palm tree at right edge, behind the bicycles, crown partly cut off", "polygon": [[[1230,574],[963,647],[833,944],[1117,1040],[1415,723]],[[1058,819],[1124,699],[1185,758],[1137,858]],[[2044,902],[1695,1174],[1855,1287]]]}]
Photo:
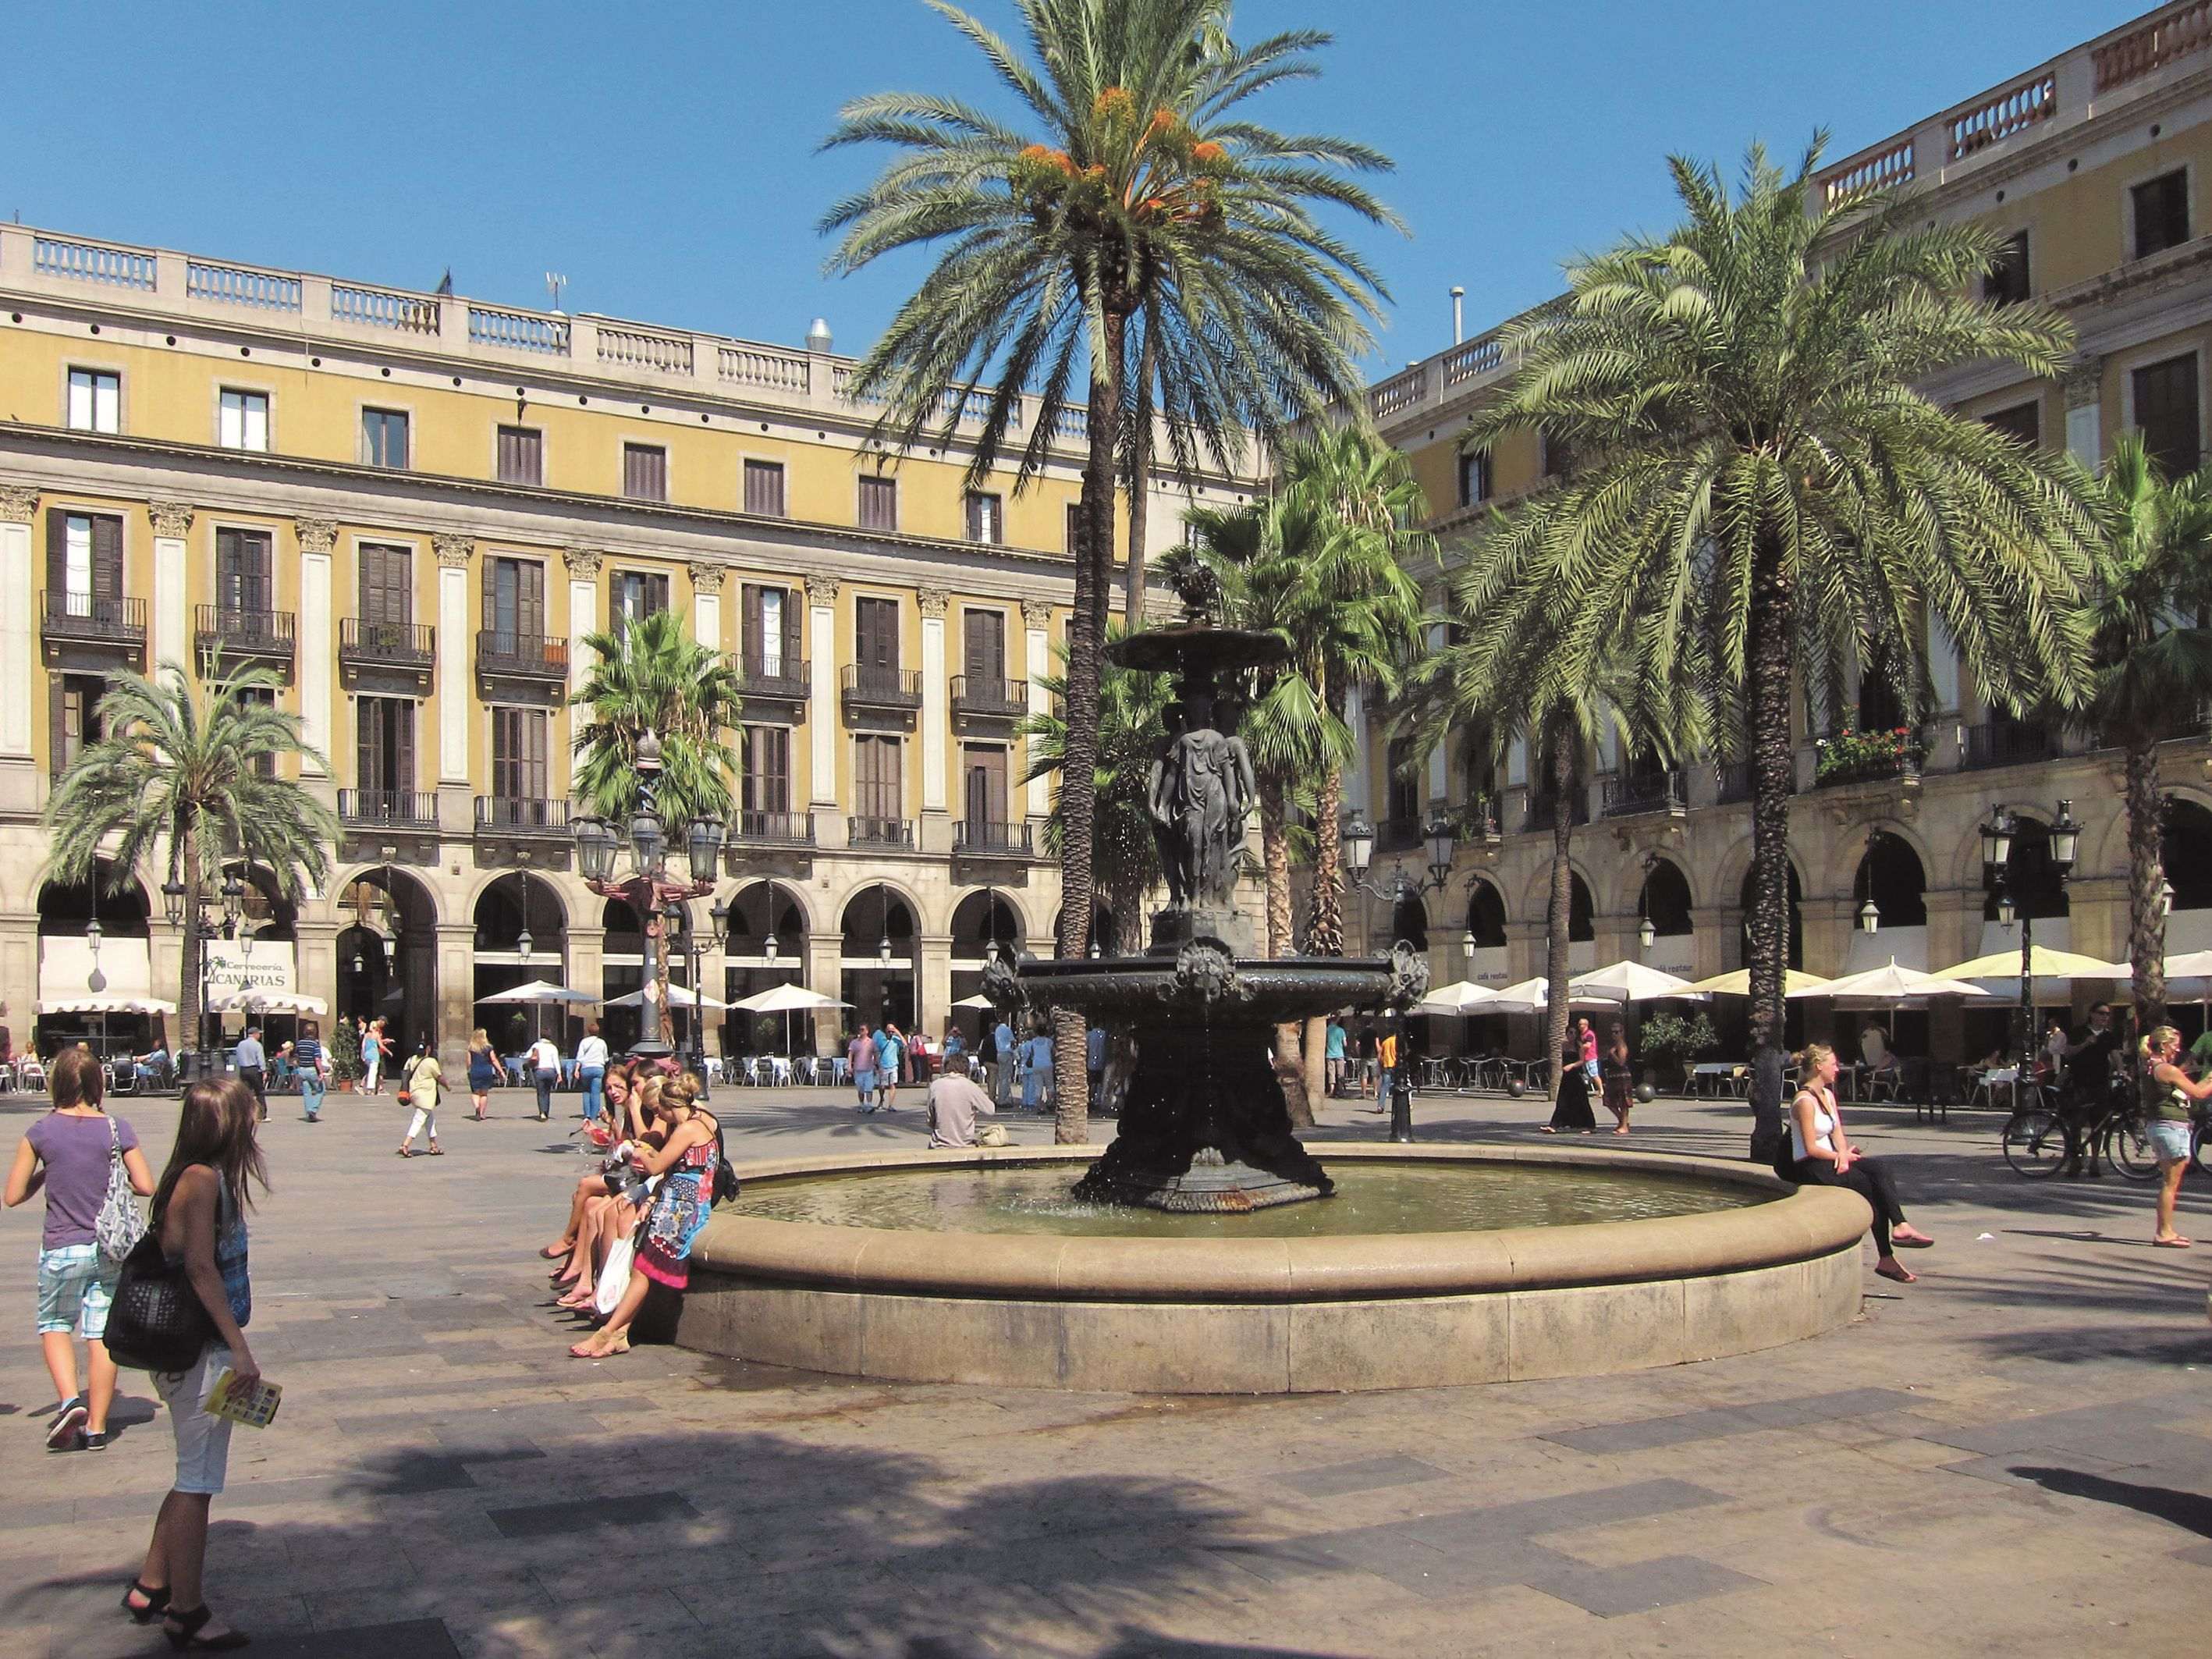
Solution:
[{"label": "palm tree at right edge, behind the bicycles, crown partly cut off", "polygon": [[2166,1020],[2163,792],[2159,741],[2212,699],[2212,478],[2159,476],[2141,434],[2112,447],[2090,549],[2093,692],[2079,723],[2126,757],[2128,964],[2135,1029]]}]

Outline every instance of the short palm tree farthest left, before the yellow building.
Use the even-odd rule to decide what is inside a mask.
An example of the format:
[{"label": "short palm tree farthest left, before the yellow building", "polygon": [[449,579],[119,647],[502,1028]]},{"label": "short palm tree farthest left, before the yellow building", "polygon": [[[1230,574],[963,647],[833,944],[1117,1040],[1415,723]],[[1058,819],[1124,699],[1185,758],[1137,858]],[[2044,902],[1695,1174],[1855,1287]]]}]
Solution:
[{"label": "short palm tree farthest left, before the yellow building", "polygon": [[201,927],[223,865],[268,869],[279,894],[301,902],[330,874],[336,814],[276,763],[296,757],[327,770],[301,737],[299,714],[276,708],[272,668],[226,672],[210,664],[201,692],[177,664],[157,677],[122,675],[100,699],[88,743],[46,801],[55,880],[91,883],[102,860],[111,887],[164,860],[164,885],[184,889],[184,962],[177,1029],[201,1040]]}]

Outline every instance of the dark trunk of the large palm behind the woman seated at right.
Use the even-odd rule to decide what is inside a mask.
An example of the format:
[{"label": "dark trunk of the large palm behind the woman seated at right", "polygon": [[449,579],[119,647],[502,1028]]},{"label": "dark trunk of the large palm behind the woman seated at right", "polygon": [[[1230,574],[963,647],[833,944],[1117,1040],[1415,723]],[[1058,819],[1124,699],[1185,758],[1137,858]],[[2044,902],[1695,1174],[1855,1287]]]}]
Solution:
[{"label": "dark trunk of the large palm behind the woman seated at right", "polygon": [[1783,984],[1790,967],[1790,750],[1792,586],[1783,549],[1761,531],[1752,571],[1750,679],[1752,730],[1752,1159],[1772,1164],[1783,1144]]}]

